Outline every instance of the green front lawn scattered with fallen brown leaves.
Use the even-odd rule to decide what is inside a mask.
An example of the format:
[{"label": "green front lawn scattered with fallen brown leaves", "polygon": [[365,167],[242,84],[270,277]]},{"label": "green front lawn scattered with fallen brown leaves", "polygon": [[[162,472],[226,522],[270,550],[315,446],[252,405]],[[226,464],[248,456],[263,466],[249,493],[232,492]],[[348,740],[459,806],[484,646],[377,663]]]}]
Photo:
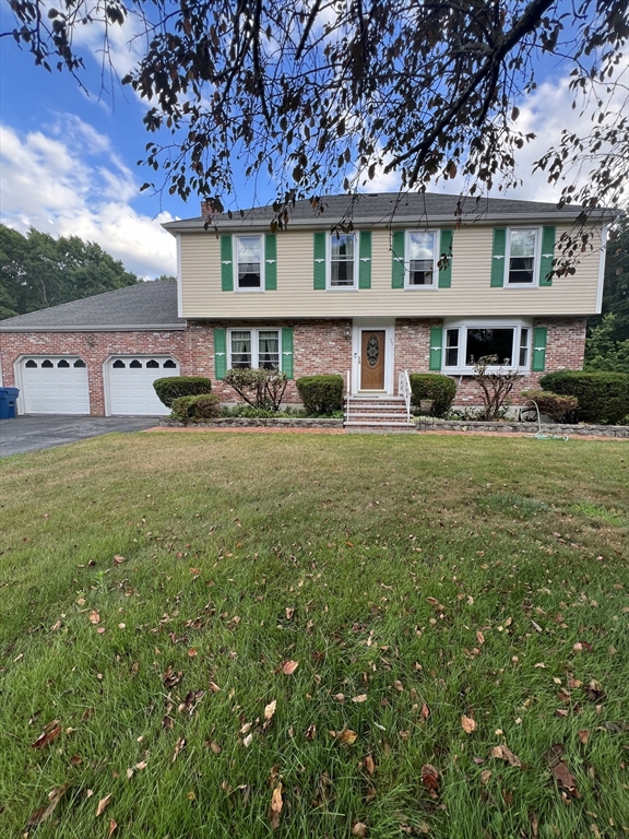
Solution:
[{"label": "green front lawn scattered with fallen brown leaves", "polygon": [[110,435],[0,481],[0,836],[629,836],[626,444]]}]

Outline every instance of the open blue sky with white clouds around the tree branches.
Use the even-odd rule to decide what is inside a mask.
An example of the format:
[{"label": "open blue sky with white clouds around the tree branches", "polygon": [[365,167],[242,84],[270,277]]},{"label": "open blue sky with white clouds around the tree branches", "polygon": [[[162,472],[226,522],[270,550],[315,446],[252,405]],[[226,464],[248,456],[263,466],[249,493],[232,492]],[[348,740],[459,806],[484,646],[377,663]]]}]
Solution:
[{"label": "open blue sky with white clouds around the tree branches", "polygon": [[[12,28],[5,5],[0,19],[1,31]],[[162,197],[140,192],[140,186],[153,179],[146,168],[137,166],[150,139],[142,125],[145,106],[130,88],[111,84],[109,79],[105,80],[108,92],[99,93],[96,33],[85,34],[83,39],[86,68],[82,79],[90,95],[68,73],[36,68],[27,51],[2,40],[0,221],[22,233],[34,226],[55,236],[78,235],[97,241],[140,276],[175,273],[175,240],[161,223],[198,215],[199,202],[191,199],[186,204],[167,192]],[[121,32],[115,46],[123,72],[132,57]],[[539,139],[520,156],[519,175],[524,185],[510,192],[513,198],[559,198],[560,188],[549,187],[541,174],[531,176],[531,164],[550,142],[559,140],[562,128],[575,127],[563,72],[568,71],[549,62],[538,91],[520,103],[518,127]],[[379,175],[369,191],[396,187],[394,174]],[[452,193],[464,188],[458,179],[435,187]],[[259,181],[254,188],[242,179],[232,206],[246,208],[273,198],[271,184]]]}]

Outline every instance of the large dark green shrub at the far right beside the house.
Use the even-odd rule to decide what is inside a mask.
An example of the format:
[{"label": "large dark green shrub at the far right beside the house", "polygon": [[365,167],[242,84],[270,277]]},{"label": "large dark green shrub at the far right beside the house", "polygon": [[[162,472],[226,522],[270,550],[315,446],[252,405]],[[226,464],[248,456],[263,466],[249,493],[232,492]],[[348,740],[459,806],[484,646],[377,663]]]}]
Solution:
[{"label": "large dark green shrub at the far right beside the house", "polygon": [[602,425],[620,424],[629,413],[629,374],[558,370],[539,379],[544,390],[577,397],[579,420]]}]

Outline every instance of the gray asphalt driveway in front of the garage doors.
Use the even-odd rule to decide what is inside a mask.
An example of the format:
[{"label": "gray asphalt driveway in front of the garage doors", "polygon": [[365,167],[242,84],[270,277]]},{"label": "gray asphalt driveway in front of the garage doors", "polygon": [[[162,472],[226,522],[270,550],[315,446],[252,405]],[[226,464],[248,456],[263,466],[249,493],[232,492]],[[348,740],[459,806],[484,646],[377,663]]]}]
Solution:
[{"label": "gray asphalt driveway in front of the garage doors", "polygon": [[110,432],[141,432],[159,425],[156,416],[19,416],[0,420],[0,458],[51,449]]}]

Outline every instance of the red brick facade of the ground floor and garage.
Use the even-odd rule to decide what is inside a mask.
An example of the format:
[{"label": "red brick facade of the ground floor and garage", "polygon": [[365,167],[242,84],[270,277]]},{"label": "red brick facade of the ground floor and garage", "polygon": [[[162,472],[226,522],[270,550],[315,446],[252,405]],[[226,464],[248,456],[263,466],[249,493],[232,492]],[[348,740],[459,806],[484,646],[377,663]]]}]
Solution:
[{"label": "red brick facade of the ground floor and garage", "polygon": [[[561,368],[579,369],[585,347],[584,318],[538,318],[535,326],[547,328],[546,371]],[[238,401],[238,395],[222,381],[215,380],[214,327],[241,329],[259,327],[253,321],[212,321],[190,323],[183,331],[138,332],[5,332],[0,336],[3,385],[14,386],[14,364],[24,355],[78,355],[87,366],[91,411],[105,413],[103,365],[111,355],[170,355],[179,362],[181,375],[207,376],[214,392],[225,402]],[[352,341],[345,338],[351,326],[347,319],[264,321],[264,327],[292,327],[294,340],[294,379],[320,373],[337,373],[344,378],[352,367]],[[394,382],[397,374],[427,373],[430,328],[441,326],[437,319],[399,318],[395,321]],[[544,374],[531,374],[518,382],[512,399],[523,390],[535,388]],[[478,390],[471,377],[455,377],[460,405],[479,404]],[[294,380],[286,390],[285,401],[298,401]]]}]

